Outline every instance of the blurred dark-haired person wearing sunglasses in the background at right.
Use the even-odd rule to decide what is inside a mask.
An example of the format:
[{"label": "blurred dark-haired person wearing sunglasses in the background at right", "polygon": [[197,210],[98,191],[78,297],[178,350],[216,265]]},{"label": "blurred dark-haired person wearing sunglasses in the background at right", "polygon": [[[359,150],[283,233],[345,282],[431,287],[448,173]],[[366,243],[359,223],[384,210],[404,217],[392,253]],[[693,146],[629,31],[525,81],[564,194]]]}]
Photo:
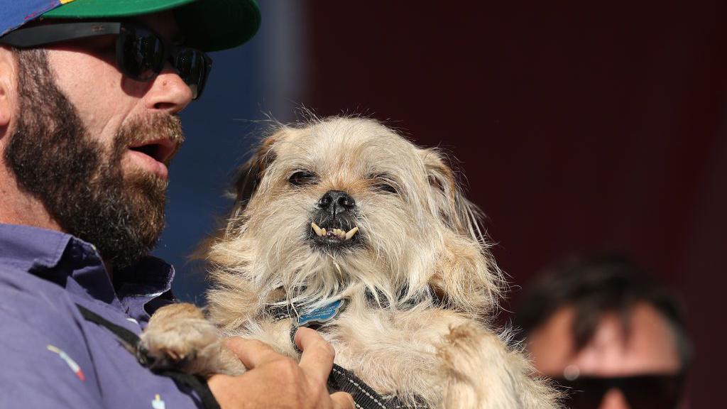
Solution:
[{"label": "blurred dark-haired person wearing sunglasses in the background at right", "polygon": [[687,408],[691,346],[680,303],[625,258],[546,271],[526,288],[515,325],[568,408]]}]

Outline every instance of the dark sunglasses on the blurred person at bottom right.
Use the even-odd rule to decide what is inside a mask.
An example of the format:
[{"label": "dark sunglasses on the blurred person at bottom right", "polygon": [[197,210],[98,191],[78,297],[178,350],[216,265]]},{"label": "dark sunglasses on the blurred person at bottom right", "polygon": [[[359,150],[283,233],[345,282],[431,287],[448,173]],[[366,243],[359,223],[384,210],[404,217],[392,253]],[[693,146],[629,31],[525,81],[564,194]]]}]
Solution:
[{"label": "dark sunglasses on the blurred person at bottom right", "polygon": [[563,404],[571,409],[598,409],[603,396],[619,389],[633,409],[675,409],[682,397],[683,376],[645,375],[622,378],[582,376],[573,381],[555,378],[562,388]]}]

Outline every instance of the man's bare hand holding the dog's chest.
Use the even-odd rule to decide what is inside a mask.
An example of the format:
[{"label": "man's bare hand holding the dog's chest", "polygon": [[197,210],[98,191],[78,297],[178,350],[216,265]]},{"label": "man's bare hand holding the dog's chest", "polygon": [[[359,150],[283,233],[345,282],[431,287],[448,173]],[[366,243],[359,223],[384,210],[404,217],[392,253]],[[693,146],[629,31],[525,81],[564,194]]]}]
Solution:
[{"label": "man's bare hand holding the dog's chest", "polygon": [[228,347],[248,370],[241,376],[209,378],[209,389],[222,409],[353,409],[350,394],[328,394],[332,346],[305,327],[295,333],[295,344],[303,352],[300,364],[260,341],[231,338]]}]

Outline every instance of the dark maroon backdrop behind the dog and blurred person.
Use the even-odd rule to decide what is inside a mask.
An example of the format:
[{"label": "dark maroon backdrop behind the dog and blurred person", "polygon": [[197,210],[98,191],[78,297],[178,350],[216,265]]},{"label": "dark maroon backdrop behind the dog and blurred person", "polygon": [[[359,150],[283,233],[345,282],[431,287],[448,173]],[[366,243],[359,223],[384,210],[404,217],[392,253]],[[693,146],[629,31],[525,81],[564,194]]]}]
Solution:
[{"label": "dark maroon backdrop behind the dog and blurred person", "polygon": [[621,250],[678,288],[692,402],[709,407],[727,273],[726,4],[505,3],[309,1],[302,103],[449,148],[515,285],[565,255]]}]

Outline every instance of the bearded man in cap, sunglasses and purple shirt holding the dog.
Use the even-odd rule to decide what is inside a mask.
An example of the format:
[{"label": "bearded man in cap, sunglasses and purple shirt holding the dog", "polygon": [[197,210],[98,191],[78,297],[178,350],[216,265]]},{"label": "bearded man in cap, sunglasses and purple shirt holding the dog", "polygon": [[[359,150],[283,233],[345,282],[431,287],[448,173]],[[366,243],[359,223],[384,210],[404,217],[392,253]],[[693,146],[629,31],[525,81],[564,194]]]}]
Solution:
[{"label": "bearded man in cap, sunglasses and purple shirt holding the dog", "polygon": [[[259,25],[254,0],[23,0],[0,16],[0,407],[353,408],[331,347],[300,365],[257,342],[207,383],[127,349],[173,301],[148,255],[164,226],[177,114]],[[143,362],[148,363],[148,362]],[[207,386],[209,385],[209,386]],[[274,391],[274,393],[273,393]]]}]

